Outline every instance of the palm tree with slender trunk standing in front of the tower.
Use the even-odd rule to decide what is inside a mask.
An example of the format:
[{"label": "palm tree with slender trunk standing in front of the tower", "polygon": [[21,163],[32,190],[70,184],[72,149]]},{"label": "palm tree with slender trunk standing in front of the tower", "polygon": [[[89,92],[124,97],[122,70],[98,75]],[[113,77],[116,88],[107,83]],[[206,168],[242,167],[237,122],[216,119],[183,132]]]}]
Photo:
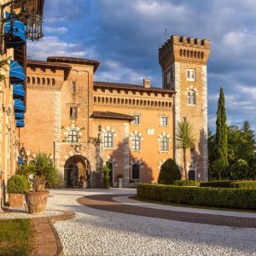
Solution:
[{"label": "palm tree with slender trunk standing in front of the tower", "polygon": [[183,164],[185,171],[186,182],[188,181],[187,174],[187,150],[195,147],[195,135],[193,133],[192,125],[187,121],[187,119],[183,119],[177,123],[177,131],[176,131],[176,148],[183,149]]}]

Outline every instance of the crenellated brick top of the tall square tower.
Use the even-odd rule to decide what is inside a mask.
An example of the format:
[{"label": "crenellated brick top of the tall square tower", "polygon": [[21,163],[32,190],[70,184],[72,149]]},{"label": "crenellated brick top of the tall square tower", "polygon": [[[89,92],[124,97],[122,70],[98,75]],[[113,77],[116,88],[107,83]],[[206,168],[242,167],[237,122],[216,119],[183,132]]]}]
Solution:
[{"label": "crenellated brick top of the tall square tower", "polygon": [[159,49],[159,60],[171,55],[173,60],[207,62],[210,53],[210,40],[186,38],[172,35]]}]

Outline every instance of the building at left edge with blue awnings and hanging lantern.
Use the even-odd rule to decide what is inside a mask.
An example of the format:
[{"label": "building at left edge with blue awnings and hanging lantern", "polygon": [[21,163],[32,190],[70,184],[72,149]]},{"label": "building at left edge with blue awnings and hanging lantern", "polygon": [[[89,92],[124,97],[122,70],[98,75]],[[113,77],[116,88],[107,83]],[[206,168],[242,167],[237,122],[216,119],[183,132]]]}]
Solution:
[{"label": "building at left edge with blue awnings and hanging lantern", "polygon": [[[0,212],[7,202],[7,182],[19,166],[19,131],[26,113],[26,28],[41,20],[44,0],[0,0]],[[25,26],[30,20],[30,26]],[[39,25],[39,23],[37,23]],[[38,29],[38,26],[34,26]],[[34,32],[34,31],[30,31]],[[38,35],[37,31],[35,35]],[[21,161],[21,159],[20,159]],[[20,162],[21,163],[21,162]]]}]

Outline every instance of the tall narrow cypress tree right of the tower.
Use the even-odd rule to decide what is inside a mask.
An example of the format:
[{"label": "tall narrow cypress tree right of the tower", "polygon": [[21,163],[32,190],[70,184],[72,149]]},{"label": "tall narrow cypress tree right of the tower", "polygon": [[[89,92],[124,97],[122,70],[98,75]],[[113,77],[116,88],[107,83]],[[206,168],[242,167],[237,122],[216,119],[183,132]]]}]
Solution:
[{"label": "tall narrow cypress tree right of the tower", "polygon": [[224,90],[220,88],[218,98],[218,110],[216,120],[216,153],[218,160],[224,166],[229,166],[228,162],[228,131],[227,131],[227,118],[225,111]]}]

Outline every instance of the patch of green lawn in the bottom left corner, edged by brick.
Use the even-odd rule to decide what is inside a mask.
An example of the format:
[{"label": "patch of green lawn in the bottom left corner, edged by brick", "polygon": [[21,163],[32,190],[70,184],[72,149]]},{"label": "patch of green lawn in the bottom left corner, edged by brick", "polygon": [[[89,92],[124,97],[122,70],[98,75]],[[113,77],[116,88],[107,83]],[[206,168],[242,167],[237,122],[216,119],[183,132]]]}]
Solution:
[{"label": "patch of green lawn in the bottom left corner, edged by brick", "polygon": [[31,255],[35,249],[31,219],[0,220],[0,255]]}]

